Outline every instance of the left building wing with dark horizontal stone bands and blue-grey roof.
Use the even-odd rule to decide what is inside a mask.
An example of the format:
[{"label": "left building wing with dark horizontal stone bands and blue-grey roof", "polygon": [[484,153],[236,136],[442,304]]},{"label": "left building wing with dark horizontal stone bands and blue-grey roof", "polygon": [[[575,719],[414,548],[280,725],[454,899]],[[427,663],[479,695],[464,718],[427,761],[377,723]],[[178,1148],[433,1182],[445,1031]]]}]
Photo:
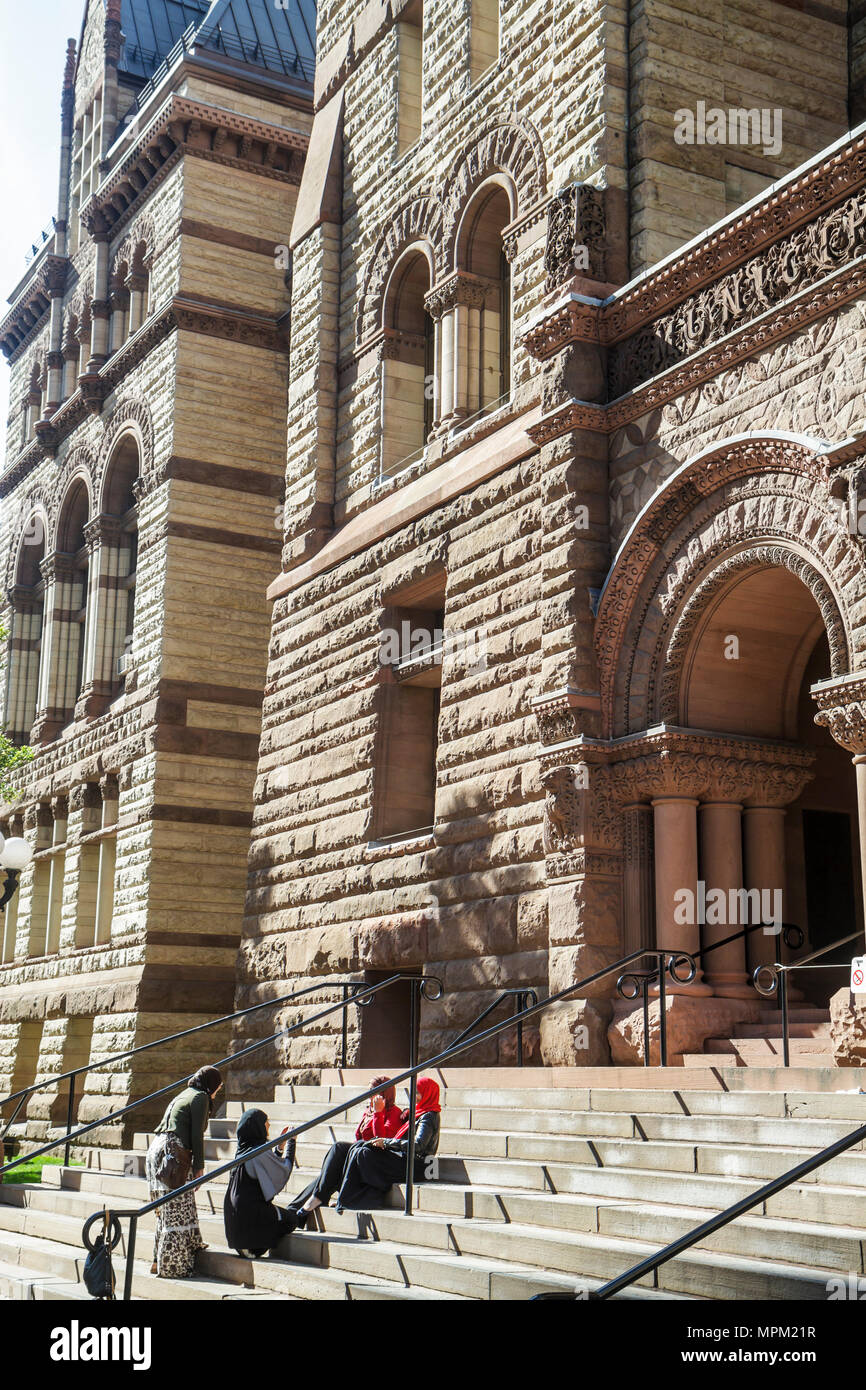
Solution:
[{"label": "left building wing with dark horizontal stone bands and blue-grey roof", "polygon": [[[90,0],[70,40],[57,215],[0,324],[6,724],[35,749],[3,828],[36,851],[3,1094],[232,1006],[313,35],[303,3]],[[78,1119],[197,1058],[97,1068]]]}]

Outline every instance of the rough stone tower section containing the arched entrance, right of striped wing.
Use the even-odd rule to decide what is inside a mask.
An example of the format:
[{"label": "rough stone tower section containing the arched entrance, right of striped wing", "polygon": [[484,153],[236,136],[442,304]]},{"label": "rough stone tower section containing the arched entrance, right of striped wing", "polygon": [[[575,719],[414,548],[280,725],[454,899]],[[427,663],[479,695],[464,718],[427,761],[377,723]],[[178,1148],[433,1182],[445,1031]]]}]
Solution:
[{"label": "rough stone tower section containing the arched entrance, right of striped wing", "polygon": [[[317,46],[239,1005],[424,969],[431,1055],[737,930],[684,890],[862,930],[863,19],[325,0]],[[774,952],[701,960],[673,1051]],[[607,979],[534,1059],[638,1061],[632,1011]]]}]

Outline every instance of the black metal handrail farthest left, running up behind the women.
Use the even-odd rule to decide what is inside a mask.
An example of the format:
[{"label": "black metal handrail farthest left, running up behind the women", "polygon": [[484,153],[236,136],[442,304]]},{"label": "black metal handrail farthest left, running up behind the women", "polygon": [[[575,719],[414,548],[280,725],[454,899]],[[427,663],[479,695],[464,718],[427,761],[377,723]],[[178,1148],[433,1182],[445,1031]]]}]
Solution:
[{"label": "black metal handrail farthest left, running up behind the women", "polygon": [[[3,1136],[0,1136],[0,1143],[3,1143],[3,1140],[8,1134],[10,1126],[13,1125],[13,1122],[15,1119],[15,1115],[21,1109],[21,1105],[24,1104],[24,1099],[26,1098],[26,1095],[32,1094],[36,1090],[40,1090],[44,1086],[53,1086],[53,1084],[57,1083],[57,1080],[63,1080],[64,1077],[68,1076],[70,1077],[70,1104],[67,1106],[67,1133],[61,1134],[61,1136],[56,1136],[53,1140],[50,1140],[47,1144],[43,1144],[40,1148],[31,1150],[28,1154],[22,1154],[19,1158],[11,1159],[8,1163],[6,1163],[4,1166],[0,1168],[0,1179],[3,1179],[3,1175],[8,1173],[13,1168],[18,1168],[19,1163],[29,1163],[29,1162],[32,1162],[32,1159],[40,1158],[43,1154],[49,1154],[53,1148],[58,1148],[61,1144],[65,1145],[64,1163],[68,1165],[68,1162],[70,1162],[70,1150],[72,1147],[72,1143],[75,1140],[81,1138],[82,1134],[89,1134],[90,1130],[99,1129],[103,1125],[110,1125],[113,1120],[121,1119],[124,1115],[129,1115],[132,1111],[139,1109],[142,1105],[146,1105],[149,1101],[156,1101],[161,1095],[167,1095],[168,1091],[174,1091],[175,1087],[181,1086],[186,1080],[186,1077],[189,1076],[189,1072],[185,1072],[182,1077],[178,1077],[177,1080],[170,1081],[168,1086],[163,1086],[157,1091],[150,1091],[149,1095],[142,1095],[136,1101],[131,1101],[129,1105],[124,1105],[120,1111],[113,1111],[110,1115],[101,1115],[99,1119],[92,1120],[89,1125],[83,1125],[82,1127],[79,1127],[76,1130],[72,1130],[71,1113],[72,1113],[74,1084],[75,1084],[75,1077],[79,1076],[82,1072],[92,1070],[93,1068],[107,1066],[108,1062],[121,1061],[122,1058],[132,1056],[135,1052],[146,1052],[149,1048],[161,1047],[163,1042],[172,1042],[177,1038],[189,1037],[192,1033],[202,1033],[204,1029],[215,1027],[218,1023],[228,1023],[232,1019],[245,1017],[249,1013],[254,1013],[257,1009],[264,1009],[264,1008],[272,1006],[275,1004],[288,1004],[288,1002],[291,1002],[293,999],[303,998],[307,994],[316,994],[316,992],[320,992],[321,990],[327,990],[327,988],[341,988],[342,994],[343,994],[342,1001],[339,1004],[328,1005],[325,1009],[320,1011],[318,1013],[313,1015],[309,1019],[300,1019],[295,1024],[278,1029],[277,1033],[268,1034],[268,1037],[260,1038],[256,1042],[250,1042],[250,1044],[247,1044],[247,1047],[240,1048],[240,1051],[231,1052],[228,1056],[220,1058],[220,1061],[217,1061],[213,1065],[217,1066],[217,1068],[220,1068],[220,1066],[232,1066],[238,1061],[238,1058],[247,1056],[250,1052],[256,1052],[259,1048],[267,1047],[268,1042],[275,1042],[277,1038],[281,1038],[281,1037],[289,1037],[292,1033],[299,1031],[299,1029],[306,1027],[307,1023],[313,1023],[317,1019],[324,1019],[329,1013],[335,1013],[338,1009],[342,1009],[343,1011],[342,1065],[345,1066],[346,1065],[346,1045],[348,1045],[346,1020],[348,1020],[349,1008],[352,1005],[356,1005],[359,1008],[366,1008],[368,1004],[373,1002],[374,995],[378,994],[379,990],[388,988],[389,986],[395,984],[395,981],[398,981],[398,980],[417,980],[417,979],[420,979],[420,977],[418,976],[411,976],[411,974],[400,973],[400,974],[389,976],[388,980],[379,980],[378,984],[370,984],[370,986],[366,986],[363,983],[363,980],[332,980],[332,981],[322,981],[321,984],[304,986],[304,988],[295,990],[292,994],[282,995],[282,997],[279,997],[277,999],[268,999],[267,1004],[256,1004],[256,1005],[253,1005],[249,1009],[238,1009],[235,1013],[227,1013],[221,1019],[211,1019],[210,1023],[199,1023],[199,1024],[196,1024],[196,1027],[183,1029],[183,1031],[181,1031],[181,1033],[172,1033],[168,1037],[157,1038],[154,1042],[145,1042],[145,1044],[142,1044],[140,1048],[131,1048],[129,1051],[126,1051],[126,1052],[118,1052],[118,1054],[113,1055],[111,1058],[103,1058],[100,1062],[90,1062],[90,1063],[88,1063],[88,1066],[76,1068],[74,1072],[64,1072],[61,1077],[49,1077],[47,1080],[38,1083],[36,1086],[28,1087],[25,1091],[15,1091],[11,1097],[7,1097],[6,1099],[7,1101],[8,1099],[14,1099],[17,1095],[21,1095],[21,1099],[18,1101],[18,1105],[15,1106],[15,1109],[13,1112],[13,1118],[10,1119],[8,1125],[6,1126],[6,1129],[3,1131]],[[3,1102],[0,1102],[0,1104],[3,1104]]]}]

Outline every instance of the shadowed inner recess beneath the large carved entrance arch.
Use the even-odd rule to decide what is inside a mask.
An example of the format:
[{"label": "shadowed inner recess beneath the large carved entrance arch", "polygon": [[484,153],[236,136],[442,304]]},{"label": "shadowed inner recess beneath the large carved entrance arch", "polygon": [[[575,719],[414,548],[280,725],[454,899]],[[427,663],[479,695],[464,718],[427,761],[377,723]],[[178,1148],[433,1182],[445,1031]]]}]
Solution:
[{"label": "shadowed inner recess beneath the large carved entrance arch", "polygon": [[[728,898],[710,910],[716,920],[699,923],[708,929],[702,944],[720,940],[714,926],[731,934],[753,924],[756,915],[770,927],[771,940],[752,940],[742,962],[740,952],[730,952],[734,974],[774,958],[780,922],[803,930],[802,954],[863,927],[855,771],[845,749],[815,723],[812,687],[830,676],[827,632],[813,594],[791,570],[771,564],[735,573],[706,600],[678,669],[678,727],[730,734],[746,752],[751,739],[795,745],[812,762],[809,780],[787,805],[778,792],[767,796],[759,776],[744,785],[742,802],[710,788],[719,799],[699,803],[699,881]],[[762,796],[773,803],[760,805]],[[760,903],[753,897],[733,899],[730,891],[740,888],[759,890]],[[749,915],[745,922],[741,909]],[[844,948],[833,959],[849,955]],[[717,992],[731,991],[730,969],[708,956],[706,979]],[[841,983],[841,973],[828,970],[796,977],[819,1005]]]}]

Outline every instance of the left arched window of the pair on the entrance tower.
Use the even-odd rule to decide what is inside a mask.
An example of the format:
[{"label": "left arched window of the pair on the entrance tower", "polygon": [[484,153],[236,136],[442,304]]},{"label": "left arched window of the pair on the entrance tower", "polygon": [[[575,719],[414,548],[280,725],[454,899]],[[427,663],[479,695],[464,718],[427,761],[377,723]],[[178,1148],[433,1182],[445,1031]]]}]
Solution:
[{"label": "left arched window of the pair on the entrance tower", "polygon": [[430,261],[413,249],[395,265],[385,293],[382,473],[418,453],[432,428],[435,336],[424,307],[428,291]]}]

